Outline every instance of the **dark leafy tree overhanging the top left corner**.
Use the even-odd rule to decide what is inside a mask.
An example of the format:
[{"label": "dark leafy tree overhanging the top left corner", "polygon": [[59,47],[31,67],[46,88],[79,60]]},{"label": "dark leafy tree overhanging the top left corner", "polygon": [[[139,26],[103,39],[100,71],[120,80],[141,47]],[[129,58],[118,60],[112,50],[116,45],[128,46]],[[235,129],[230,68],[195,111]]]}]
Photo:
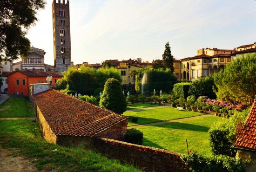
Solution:
[{"label": "dark leafy tree overhanging the top left corner", "polygon": [[44,7],[44,0],[1,0],[0,62],[28,54],[30,41],[26,33],[37,21],[37,11]]}]

